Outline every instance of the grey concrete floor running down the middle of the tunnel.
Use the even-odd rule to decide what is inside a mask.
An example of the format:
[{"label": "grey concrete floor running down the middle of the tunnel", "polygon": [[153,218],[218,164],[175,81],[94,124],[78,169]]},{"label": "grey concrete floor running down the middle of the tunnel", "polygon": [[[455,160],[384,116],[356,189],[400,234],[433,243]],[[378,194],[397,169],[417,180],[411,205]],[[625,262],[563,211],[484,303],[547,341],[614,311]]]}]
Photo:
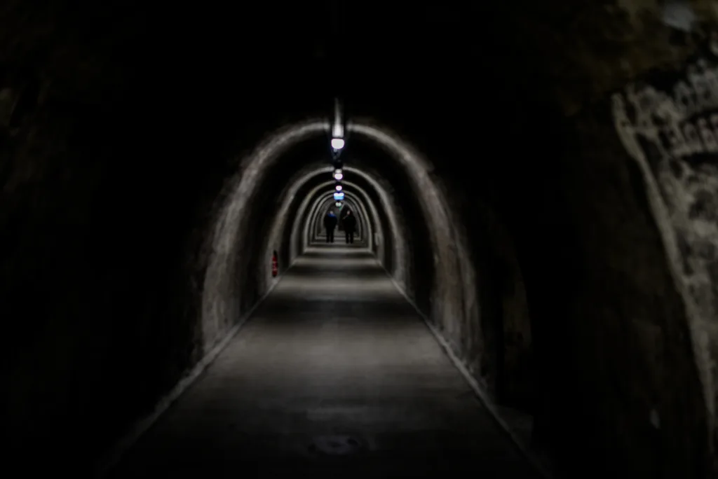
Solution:
[{"label": "grey concrete floor running down the middle of the tunnel", "polygon": [[536,478],[370,253],[300,257],[114,478]]}]

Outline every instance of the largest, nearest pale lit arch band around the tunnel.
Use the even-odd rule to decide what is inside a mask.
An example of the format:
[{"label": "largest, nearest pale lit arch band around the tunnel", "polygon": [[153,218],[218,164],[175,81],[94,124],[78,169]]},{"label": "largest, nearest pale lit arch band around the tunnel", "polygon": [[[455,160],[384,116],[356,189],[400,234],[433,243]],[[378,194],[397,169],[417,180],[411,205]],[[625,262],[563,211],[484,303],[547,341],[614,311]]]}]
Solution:
[{"label": "largest, nearest pale lit arch band around the tunnel", "polygon": [[[308,120],[284,128],[273,133],[243,161],[242,170],[245,173],[236,184],[229,201],[225,203],[213,235],[213,255],[205,276],[205,297],[202,301],[205,344],[215,343],[220,335],[219,331],[225,331],[233,321],[231,318],[240,316],[236,299],[239,292],[230,280],[234,270],[230,265],[235,261],[237,250],[242,249],[242,238],[238,231],[243,227],[241,223],[246,221],[243,213],[254,189],[261,184],[267,169],[282,151],[307,136],[325,133],[328,128],[327,123],[318,120]],[[351,123],[348,130],[381,144],[401,164],[411,179],[414,193],[424,209],[426,222],[432,224],[429,231],[434,246],[434,267],[437,271],[434,284],[437,290],[432,293],[430,317],[435,318],[449,336],[460,335],[459,325],[462,320],[457,321],[457,318],[464,318],[465,313],[468,313],[470,318],[467,319],[472,321],[476,315],[475,305],[466,305],[464,301],[474,294],[474,273],[469,271],[470,265],[464,265],[463,268],[460,265],[457,255],[465,250],[461,245],[462,236],[453,234],[455,223],[449,219],[450,212],[447,211],[442,194],[429,178],[429,163],[397,138],[383,133],[376,125],[358,121]]]}]

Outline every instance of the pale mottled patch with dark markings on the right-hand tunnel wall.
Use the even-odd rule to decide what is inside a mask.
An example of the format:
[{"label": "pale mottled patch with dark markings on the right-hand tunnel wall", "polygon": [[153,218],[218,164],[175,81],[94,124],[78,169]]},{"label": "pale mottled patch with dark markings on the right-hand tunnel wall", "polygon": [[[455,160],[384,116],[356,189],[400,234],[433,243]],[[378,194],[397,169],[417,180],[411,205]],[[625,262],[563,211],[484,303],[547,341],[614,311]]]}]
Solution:
[{"label": "pale mottled patch with dark markings on the right-hand tunnel wall", "polygon": [[[718,44],[684,68],[612,95],[615,128],[660,204],[673,264],[691,305],[709,392],[718,384]],[[670,250],[670,248],[669,248]],[[713,349],[713,350],[712,350]],[[716,398],[708,400],[714,409]]]}]

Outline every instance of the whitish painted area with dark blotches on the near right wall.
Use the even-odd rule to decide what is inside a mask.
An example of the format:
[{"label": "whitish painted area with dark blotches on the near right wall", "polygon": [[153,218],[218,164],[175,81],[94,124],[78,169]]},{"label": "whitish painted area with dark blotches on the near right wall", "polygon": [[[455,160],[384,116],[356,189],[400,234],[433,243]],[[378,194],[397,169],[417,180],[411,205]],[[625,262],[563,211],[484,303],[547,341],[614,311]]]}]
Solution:
[{"label": "whitish painted area with dark blotches on the near right wall", "polygon": [[[617,134],[643,173],[668,265],[684,298],[709,427],[714,430],[718,373],[709,344],[718,341],[712,326],[718,310],[712,294],[704,292],[711,290],[709,262],[716,258],[701,256],[699,246],[718,245],[718,224],[693,217],[690,209],[697,195],[718,191],[715,163],[696,166],[691,161],[696,155],[718,159],[718,65],[699,58],[685,71],[668,90],[628,85],[613,95],[612,110]],[[692,251],[682,252],[679,240]],[[684,270],[684,262],[692,272]]]}]

